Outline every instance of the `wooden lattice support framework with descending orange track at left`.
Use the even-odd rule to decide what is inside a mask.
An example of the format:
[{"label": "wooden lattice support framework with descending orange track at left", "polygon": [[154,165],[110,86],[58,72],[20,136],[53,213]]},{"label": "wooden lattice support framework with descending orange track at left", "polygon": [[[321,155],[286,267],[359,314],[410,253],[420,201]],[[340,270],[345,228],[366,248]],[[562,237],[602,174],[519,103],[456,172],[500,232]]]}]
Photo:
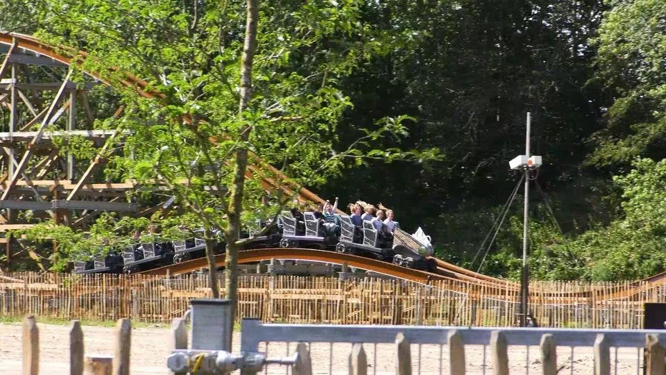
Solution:
[{"label": "wooden lattice support framework with descending orange track at left", "polygon": [[[72,81],[72,56],[85,53],[62,51],[68,49],[28,35],[0,32],[0,235],[30,226],[24,219],[26,212],[60,224],[87,226],[104,211],[142,216],[162,207],[128,202],[126,192],[137,188],[135,181],[103,181],[101,154],[108,140],[123,135],[95,128],[95,120],[117,117],[123,107],[96,108],[91,90],[102,86],[112,94],[114,89],[94,72],[85,72],[83,83]],[[153,97],[144,81],[128,77],[126,85]],[[92,140],[98,156],[77,164],[74,156],[60,155],[53,139],[68,135]],[[282,176],[270,165],[250,166],[248,174],[259,169]],[[264,178],[262,185],[266,190],[278,187],[271,178]],[[293,191],[298,191],[300,201],[323,203],[306,189]],[[0,242],[7,240],[0,237]]]}]

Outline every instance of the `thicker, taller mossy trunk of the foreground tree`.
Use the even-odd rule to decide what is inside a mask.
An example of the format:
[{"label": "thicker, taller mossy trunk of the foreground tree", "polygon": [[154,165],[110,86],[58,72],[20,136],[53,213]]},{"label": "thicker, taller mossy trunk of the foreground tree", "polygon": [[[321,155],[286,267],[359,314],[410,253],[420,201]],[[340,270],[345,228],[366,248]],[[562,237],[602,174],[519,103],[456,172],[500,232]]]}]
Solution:
[{"label": "thicker, taller mossy trunk of the foreground tree", "polygon": [[[257,49],[257,22],[259,18],[259,0],[247,0],[247,19],[245,30],[245,44],[243,60],[241,63],[241,100],[239,103],[239,116],[247,108],[252,97],[252,63]],[[244,124],[239,134],[241,144],[250,138],[252,127]],[[236,164],[234,165],[234,181],[231,188],[231,202],[229,205],[229,225],[225,233],[227,238],[227,254],[225,257],[225,297],[232,304],[232,321],[236,317],[237,289],[238,289],[238,250],[236,244],[241,230],[241,211],[243,210],[243,193],[245,187],[245,172],[248,167],[248,150],[241,146],[236,151]],[[230,335],[232,332],[229,333]],[[231,340],[229,341],[231,342]]]}]

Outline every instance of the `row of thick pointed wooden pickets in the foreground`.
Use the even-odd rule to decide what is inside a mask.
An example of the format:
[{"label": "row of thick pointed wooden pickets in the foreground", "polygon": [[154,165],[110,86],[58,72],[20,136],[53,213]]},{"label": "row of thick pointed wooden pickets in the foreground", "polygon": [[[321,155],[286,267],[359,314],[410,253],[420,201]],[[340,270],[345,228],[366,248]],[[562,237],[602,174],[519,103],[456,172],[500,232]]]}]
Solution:
[{"label": "row of thick pointed wooden pickets in the foreground", "polygon": [[[85,356],[83,347],[83,331],[78,321],[71,324],[69,331],[69,373],[74,375],[83,374],[130,374],[130,344],[131,344],[131,324],[129,319],[119,319],[114,331],[114,355],[113,356]],[[187,327],[184,319],[173,319],[171,326],[171,338],[165,345],[169,349],[188,349]],[[462,375],[466,373],[466,347],[458,330],[450,330],[446,335],[447,347],[449,351],[448,367],[450,374]],[[23,369],[24,375],[40,374],[40,333],[35,322],[35,317],[28,316],[23,324]],[[501,330],[493,331],[490,335],[490,356],[488,361],[493,374],[509,374],[509,353],[504,332]],[[540,340],[540,363],[541,374],[557,374],[558,362],[556,358],[556,341],[551,333],[543,334]],[[594,367],[595,374],[610,374],[610,347],[604,334],[597,335],[594,346]],[[293,375],[311,375],[312,360],[308,345],[305,342],[299,342],[296,347],[296,361],[291,365],[291,374]],[[644,374],[663,375],[666,374],[665,363],[666,351],[660,345],[657,335],[647,334],[644,347]],[[395,337],[395,374],[408,375],[413,372],[413,357],[411,355],[411,344],[405,338],[403,333],[398,333]],[[418,357],[420,360],[420,356]],[[484,362],[486,358],[484,357]],[[241,361],[242,363],[242,361]],[[375,359],[376,365],[376,359]],[[440,363],[440,365],[443,365]],[[617,365],[617,364],[616,364]],[[420,367],[419,367],[420,369]],[[617,369],[616,369],[617,370]],[[262,369],[244,369],[243,374],[255,374]],[[171,374],[165,368],[165,373]],[[420,372],[420,371],[419,371]],[[366,375],[368,374],[368,357],[364,350],[364,344],[355,342],[352,344],[348,360],[348,374]]]}]

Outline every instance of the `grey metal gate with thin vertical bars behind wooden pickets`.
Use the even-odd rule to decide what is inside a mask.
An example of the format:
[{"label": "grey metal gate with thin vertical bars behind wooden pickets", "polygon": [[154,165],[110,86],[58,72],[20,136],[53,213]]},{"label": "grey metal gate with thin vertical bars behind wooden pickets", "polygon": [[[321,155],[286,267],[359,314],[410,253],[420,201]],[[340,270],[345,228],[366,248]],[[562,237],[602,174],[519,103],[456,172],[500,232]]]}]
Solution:
[{"label": "grey metal gate with thin vertical bars behind wooden pickets", "polygon": [[[505,373],[497,372],[497,367],[506,367],[511,374],[550,373],[547,367],[554,370],[553,374],[641,374],[644,348],[652,340],[652,345],[661,350],[655,353],[661,357],[662,365],[649,374],[664,374],[661,349],[666,347],[664,333],[577,328],[262,324],[257,319],[244,319],[240,350],[289,356],[293,355],[296,344],[305,342],[312,373],[317,374],[351,374],[352,357],[362,350],[368,374],[395,374],[401,361],[396,347],[400,334],[404,337],[400,340],[411,348],[407,357],[414,374]],[[359,344],[363,345],[352,350]],[[289,368],[268,365],[263,371],[289,374]]]}]

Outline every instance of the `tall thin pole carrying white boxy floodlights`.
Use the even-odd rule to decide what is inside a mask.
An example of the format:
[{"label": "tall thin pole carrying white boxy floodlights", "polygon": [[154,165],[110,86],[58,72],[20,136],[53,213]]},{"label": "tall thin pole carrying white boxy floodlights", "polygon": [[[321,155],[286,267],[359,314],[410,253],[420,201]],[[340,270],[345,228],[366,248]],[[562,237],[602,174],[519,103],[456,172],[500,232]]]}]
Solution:
[{"label": "tall thin pole carrying white boxy floodlights", "polygon": [[527,113],[527,131],[525,133],[525,154],[513,158],[509,167],[522,170],[525,174],[525,200],[522,226],[522,269],[520,271],[520,326],[527,326],[527,305],[529,297],[529,269],[527,266],[527,223],[529,219],[529,171],[538,169],[543,163],[541,156],[529,154],[529,133],[531,127],[531,113]]}]

